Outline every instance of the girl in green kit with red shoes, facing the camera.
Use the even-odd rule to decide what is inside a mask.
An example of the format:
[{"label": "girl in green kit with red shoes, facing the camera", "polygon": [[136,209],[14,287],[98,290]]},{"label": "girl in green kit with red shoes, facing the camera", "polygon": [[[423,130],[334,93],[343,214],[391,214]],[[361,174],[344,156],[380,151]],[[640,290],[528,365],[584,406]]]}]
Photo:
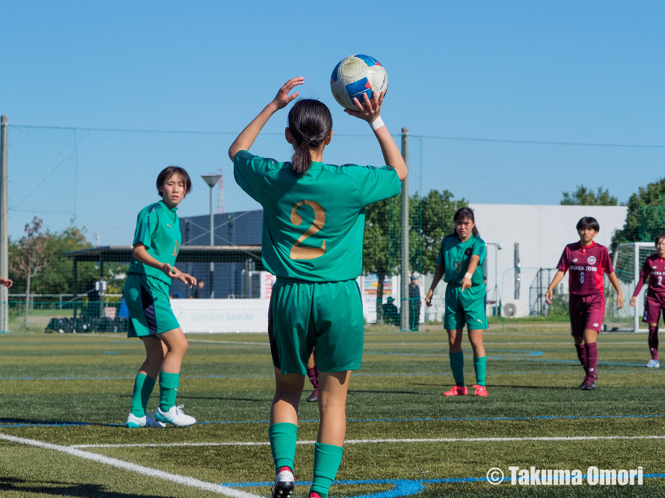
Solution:
[{"label": "girl in green kit with red shoes, facing the camera", "polygon": [[448,331],[450,367],[453,370],[455,385],[444,396],[466,395],[464,385],[464,354],[462,335],[464,324],[469,333],[473,348],[473,368],[475,369],[475,396],[487,396],[485,389],[485,346],[483,330],[487,328],[485,316],[485,283],[483,283],[483,261],[485,242],[478,235],[473,211],[468,207],[458,209],[454,217],[455,233],[444,237],[436,259],[436,272],[432,287],[427,293],[425,304],[432,306],[432,294],[436,285],[444,277],[446,287],[446,314],[444,328]]}]

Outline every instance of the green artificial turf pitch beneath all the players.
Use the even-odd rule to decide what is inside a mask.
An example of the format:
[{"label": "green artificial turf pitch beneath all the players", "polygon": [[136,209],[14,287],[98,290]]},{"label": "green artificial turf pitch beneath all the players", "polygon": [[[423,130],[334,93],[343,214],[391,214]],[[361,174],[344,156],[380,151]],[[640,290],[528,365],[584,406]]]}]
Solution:
[{"label": "green artificial turf pitch beneath all the players", "polygon": [[[556,326],[494,326],[485,335],[488,398],[441,392],[453,384],[439,328],[400,333],[368,326],[362,369],[350,383],[347,439],[665,436],[665,377],[644,368],[644,334],[599,338],[597,390],[577,390],[583,371],[570,335]],[[265,442],[273,368],[264,334],[192,334],[178,403],[199,424],[176,430],[122,426],[144,351],[118,334],[0,336],[0,434],[60,445]],[[466,342],[466,341],[465,341]],[[464,346],[466,384],[475,383]],[[299,440],[317,436],[316,404],[301,403]],[[157,390],[150,400],[156,407]],[[663,496],[665,479],[638,486],[493,486],[491,467],[539,469],[644,467],[665,473],[663,439],[583,441],[356,442],[331,497],[372,493],[390,498],[444,496]],[[267,496],[273,465],[267,445],[84,447],[146,467],[233,483]],[[298,445],[296,473],[311,480],[313,446]],[[464,482],[442,482],[461,478]],[[469,480],[469,479],[482,480]],[[249,486],[249,483],[253,485]],[[263,484],[261,484],[263,483]],[[306,497],[307,485],[295,497]],[[207,497],[195,487],[146,477],[43,449],[0,440],[0,496]]]}]

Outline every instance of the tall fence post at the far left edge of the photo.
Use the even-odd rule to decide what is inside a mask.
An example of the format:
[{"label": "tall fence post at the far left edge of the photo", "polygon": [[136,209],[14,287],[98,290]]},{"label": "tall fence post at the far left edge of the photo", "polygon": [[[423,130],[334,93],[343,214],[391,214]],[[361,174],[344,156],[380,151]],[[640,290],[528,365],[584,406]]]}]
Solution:
[{"label": "tall fence post at the far left edge of the photo", "polygon": [[[7,116],[0,118],[0,277],[9,277],[9,238],[7,235]],[[0,285],[0,333],[9,332],[9,289]]]}]

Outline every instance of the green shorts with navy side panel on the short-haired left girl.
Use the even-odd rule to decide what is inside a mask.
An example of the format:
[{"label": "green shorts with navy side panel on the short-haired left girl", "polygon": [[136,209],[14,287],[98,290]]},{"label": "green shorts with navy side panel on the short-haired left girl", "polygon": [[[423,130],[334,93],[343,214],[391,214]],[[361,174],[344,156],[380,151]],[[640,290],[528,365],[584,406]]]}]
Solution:
[{"label": "green shorts with navy side panel on the short-haired left girl", "polygon": [[180,327],[171,309],[166,282],[129,273],[123,295],[129,311],[128,337],[162,334]]}]

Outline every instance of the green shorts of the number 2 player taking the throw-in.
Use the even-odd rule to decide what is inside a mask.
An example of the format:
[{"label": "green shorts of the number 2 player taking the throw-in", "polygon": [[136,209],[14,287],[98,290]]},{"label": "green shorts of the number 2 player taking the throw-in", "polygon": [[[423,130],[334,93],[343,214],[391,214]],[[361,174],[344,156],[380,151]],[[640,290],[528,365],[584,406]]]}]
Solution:
[{"label": "green shorts of the number 2 player taking the throw-in", "polygon": [[312,349],[320,372],[358,370],[364,342],[358,284],[277,279],[268,336],[273,364],[285,375],[307,374]]}]

